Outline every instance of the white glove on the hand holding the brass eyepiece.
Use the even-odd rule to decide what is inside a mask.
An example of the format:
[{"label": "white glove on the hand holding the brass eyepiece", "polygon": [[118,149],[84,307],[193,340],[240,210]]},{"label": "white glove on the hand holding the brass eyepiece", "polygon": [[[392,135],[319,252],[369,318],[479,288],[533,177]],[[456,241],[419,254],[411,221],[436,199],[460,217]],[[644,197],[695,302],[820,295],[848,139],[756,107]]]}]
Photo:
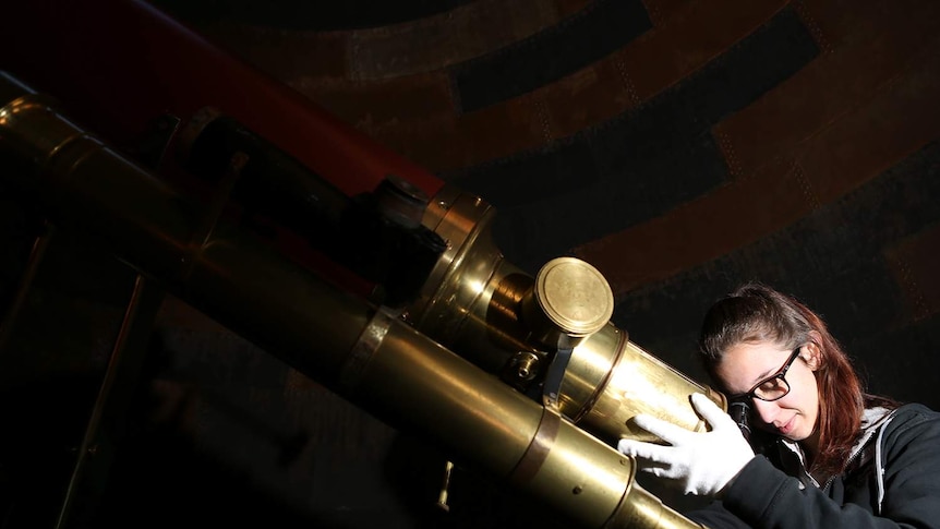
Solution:
[{"label": "white glove on the hand holding the brass eyepiece", "polygon": [[754,458],[754,450],[734,419],[718,405],[700,393],[691,401],[711,425],[710,432],[692,432],[639,414],[635,418],[638,426],[672,446],[624,438],[617,449],[637,458],[641,471],[675,481],[686,494],[718,496]]}]

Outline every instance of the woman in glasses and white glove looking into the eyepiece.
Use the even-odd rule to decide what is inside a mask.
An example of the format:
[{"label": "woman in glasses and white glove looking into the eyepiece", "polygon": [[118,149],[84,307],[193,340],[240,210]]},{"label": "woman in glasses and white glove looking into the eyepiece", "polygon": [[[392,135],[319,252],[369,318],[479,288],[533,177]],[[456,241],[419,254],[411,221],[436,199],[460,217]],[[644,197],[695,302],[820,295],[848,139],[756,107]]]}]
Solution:
[{"label": "woman in glasses and white glove looking into the eyepiece", "polygon": [[665,445],[623,440],[641,470],[718,500],[687,513],[723,527],[940,527],[940,413],[863,392],[822,320],[745,285],[706,315],[700,352],[730,401],[749,405],[750,443],[702,395],[711,430],[638,416]]}]

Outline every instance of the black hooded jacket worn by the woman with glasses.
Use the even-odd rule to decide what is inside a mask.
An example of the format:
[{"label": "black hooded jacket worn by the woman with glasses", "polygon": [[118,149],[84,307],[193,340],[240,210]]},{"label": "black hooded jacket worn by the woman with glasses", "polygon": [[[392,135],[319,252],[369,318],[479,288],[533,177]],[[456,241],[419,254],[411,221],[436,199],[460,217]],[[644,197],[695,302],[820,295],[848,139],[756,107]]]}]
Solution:
[{"label": "black hooded jacket worn by the woman with glasses", "polygon": [[686,516],[712,529],[940,528],[940,413],[904,405],[864,433],[848,470],[819,488],[761,455],[721,502]]}]

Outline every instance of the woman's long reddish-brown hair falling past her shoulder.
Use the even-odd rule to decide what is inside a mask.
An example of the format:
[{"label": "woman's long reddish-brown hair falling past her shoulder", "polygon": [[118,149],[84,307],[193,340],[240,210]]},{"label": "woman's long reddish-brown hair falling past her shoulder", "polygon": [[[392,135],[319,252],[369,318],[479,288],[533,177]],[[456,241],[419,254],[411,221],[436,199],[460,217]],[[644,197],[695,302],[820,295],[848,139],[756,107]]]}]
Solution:
[{"label": "woman's long reddish-brown hair falling past her shoulder", "polygon": [[868,395],[839,341],[818,314],[794,297],[748,282],[709,309],[699,336],[699,352],[713,381],[724,351],[742,342],[769,341],[785,349],[815,342],[820,350],[814,372],[819,388],[819,447],[811,470],[832,476],[844,470],[868,406],[894,408],[887,397]]}]

